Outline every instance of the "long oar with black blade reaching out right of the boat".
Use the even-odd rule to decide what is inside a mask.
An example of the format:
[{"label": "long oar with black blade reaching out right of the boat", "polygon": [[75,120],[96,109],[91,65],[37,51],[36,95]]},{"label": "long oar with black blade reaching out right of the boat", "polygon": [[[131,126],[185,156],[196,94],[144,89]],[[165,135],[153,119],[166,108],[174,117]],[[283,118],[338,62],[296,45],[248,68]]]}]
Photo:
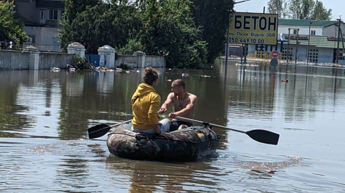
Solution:
[{"label": "long oar with black blade reaching out right of the boat", "polygon": [[179,117],[176,116],[176,119],[180,119],[180,120],[184,120],[184,121],[193,121],[193,122],[197,122],[197,123],[201,123],[201,124],[205,124],[205,125],[211,125],[214,127],[218,127],[218,128],[222,128],[222,129],[227,129],[227,130],[231,130],[231,131],[235,131],[235,132],[239,132],[239,133],[245,133],[247,134],[251,139],[264,143],[264,144],[271,144],[271,145],[277,145],[278,144],[278,140],[279,140],[279,134],[270,132],[270,131],[266,131],[266,130],[262,130],[262,129],[255,129],[255,130],[251,130],[251,131],[240,131],[237,129],[231,129],[228,127],[224,127],[221,125],[215,125],[212,123],[207,123],[207,122],[203,122],[203,121],[197,121],[197,120],[193,120],[193,119],[188,119],[188,118],[184,118],[184,117]]}]

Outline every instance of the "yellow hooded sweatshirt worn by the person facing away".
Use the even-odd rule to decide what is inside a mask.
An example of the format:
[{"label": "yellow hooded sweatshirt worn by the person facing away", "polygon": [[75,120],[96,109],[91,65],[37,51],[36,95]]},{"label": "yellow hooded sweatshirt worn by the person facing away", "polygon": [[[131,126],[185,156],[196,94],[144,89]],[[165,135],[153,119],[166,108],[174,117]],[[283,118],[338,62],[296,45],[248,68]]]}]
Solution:
[{"label": "yellow hooded sweatshirt worn by the person facing away", "polygon": [[131,104],[133,128],[145,130],[152,129],[154,125],[157,125],[160,96],[151,85],[139,84],[131,98]]}]

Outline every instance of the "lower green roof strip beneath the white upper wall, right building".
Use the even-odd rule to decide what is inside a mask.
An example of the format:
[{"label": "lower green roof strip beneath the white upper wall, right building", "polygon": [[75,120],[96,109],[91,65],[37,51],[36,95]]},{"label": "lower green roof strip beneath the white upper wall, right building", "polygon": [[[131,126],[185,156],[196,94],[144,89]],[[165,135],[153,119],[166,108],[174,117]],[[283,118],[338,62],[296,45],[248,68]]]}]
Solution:
[{"label": "lower green roof strip beneath the white upper wall, right building", "polygon": [[[287,36],[287,34],[284,34]],[[308,37],[308,36],[305,36]],[[310,36],[309,45],[316,46],[316,47],[326,47],[326,48],[336,48],[337,47],[337,39],[332,38],[333,36],[321,36],[321,35],[312,35]],[[286,39],[285,39],[286,40]],[[306,39],[298,39],[299,45],[308,45],[308,40]],[[284,42],[287,44],[287,42]],[[296,39],[290,39],[289,44],[296,44]],[[339,47],[341,48],[341,39],[339,43]]]}]

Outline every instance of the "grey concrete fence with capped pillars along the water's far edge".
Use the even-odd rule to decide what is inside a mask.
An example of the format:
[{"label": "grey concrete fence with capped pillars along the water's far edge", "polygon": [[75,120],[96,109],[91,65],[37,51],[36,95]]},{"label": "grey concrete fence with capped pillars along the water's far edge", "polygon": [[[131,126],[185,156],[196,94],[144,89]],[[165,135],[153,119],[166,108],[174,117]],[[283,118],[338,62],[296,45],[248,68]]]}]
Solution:
[{"label": "grey concrete fence with capped pillars along the water's far edge", "polygon": [[[0,70],[46,70],[51,67],[65,68],[66,64],[73,64],[73,56],[84,57],[85,48],[78,42],[72,42],[67,46],[67,53],[40,52],[38,48],[30,45],[23,51],[0,50]],[[136,51],[133,55],[117,55],[115,49],[104,45],[98,49],[99,65],[114,68],[120,64],[129,65],[132,68],[165,67],[163,56],[145,55]],[[93,63],[93,62],[92,62]]]}]

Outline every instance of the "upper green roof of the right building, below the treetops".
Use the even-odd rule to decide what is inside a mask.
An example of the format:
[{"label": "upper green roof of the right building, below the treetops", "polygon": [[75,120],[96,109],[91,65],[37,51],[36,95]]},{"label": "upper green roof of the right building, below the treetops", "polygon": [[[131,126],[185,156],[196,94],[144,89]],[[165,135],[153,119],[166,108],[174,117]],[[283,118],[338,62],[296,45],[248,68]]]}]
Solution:
[{"label": "upper green roof of the right building, below the treetops", "polygon": [[309,19],[279,19],[279,25],[286,25],[286,26],[309,26],[309,22],[311,27],[327,27],[329,25],[333,25],[337,21],[328,21],[328,20],[309,20]]}]

